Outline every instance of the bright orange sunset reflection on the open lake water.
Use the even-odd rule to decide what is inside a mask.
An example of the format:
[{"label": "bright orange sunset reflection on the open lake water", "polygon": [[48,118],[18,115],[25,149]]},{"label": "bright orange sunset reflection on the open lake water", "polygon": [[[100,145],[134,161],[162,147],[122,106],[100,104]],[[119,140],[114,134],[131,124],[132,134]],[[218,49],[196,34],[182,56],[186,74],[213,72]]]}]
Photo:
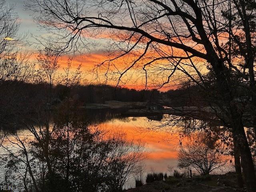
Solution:
[{"label": "bright orange sunset reflection on the open lake water", "polygon": [[140,140],[146,146],[146,170],[166,172],[168,165],[176,166],[179,138],[166,133],[165,129],[152,130],[157,121],[146,117],[113,118],[99,124],[104,130],[124,132],[128,141]]}]

